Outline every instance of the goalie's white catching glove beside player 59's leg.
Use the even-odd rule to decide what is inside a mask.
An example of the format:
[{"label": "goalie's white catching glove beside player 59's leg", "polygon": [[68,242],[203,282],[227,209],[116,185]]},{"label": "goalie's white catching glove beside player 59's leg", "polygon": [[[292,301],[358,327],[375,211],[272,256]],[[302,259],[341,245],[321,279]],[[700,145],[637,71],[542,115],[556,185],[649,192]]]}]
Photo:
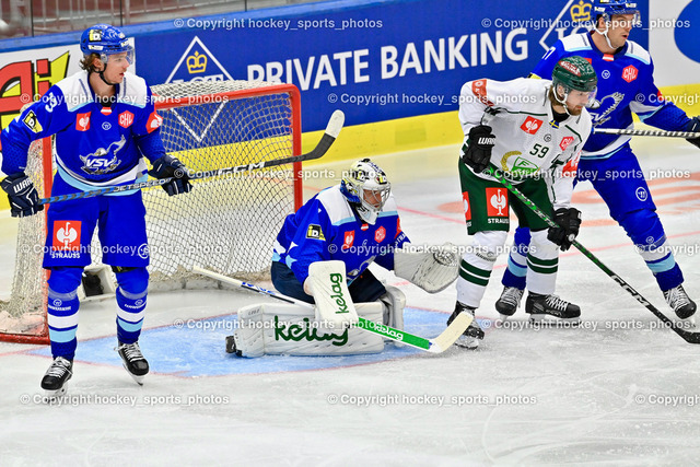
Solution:
[{"label": "goalie's white catching glove beside player 59's leg", "polygon": [[459,252],[450,243],[420,249],[409,244],[394,252],[394,273],[425,292],[436,293],[457,279],[459,259]]}]

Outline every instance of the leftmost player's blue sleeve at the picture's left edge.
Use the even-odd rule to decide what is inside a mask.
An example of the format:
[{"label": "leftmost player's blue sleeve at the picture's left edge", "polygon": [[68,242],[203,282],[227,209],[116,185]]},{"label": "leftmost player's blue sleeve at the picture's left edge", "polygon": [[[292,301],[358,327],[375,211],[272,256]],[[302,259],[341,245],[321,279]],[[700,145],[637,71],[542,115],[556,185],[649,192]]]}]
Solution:
[{"label": "leftmost player's blue sleeve at the picture's left edge", "polygon": [[26,170],[32,141],[55,135],[75,125],[68,113],[63,93],[52,86],[42,98],[24,109],[0,133],[2,172],[8,175]]}]

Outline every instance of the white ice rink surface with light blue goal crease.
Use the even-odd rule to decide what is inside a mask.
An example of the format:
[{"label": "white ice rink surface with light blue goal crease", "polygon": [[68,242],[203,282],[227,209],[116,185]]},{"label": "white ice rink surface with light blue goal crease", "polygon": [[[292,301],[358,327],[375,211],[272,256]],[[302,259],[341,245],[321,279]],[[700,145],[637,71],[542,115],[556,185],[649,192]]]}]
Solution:
[{"label": "white ice rink surface with light blue goal crease", "polygon": [[[653,180],[651,188],[678,247],[686,289],[699,300],[700,154],[684,140],[639,138],[634,148],[648,174],[690,174]],[[470,242],[456,157],[456,145],[374,157],[393,183],[413,243]],[[311,168],[340,174],[345,165]],[[306,180],[305,198],[336,182]],[[580,242],[674,318],[590,185],[576,188],[576,201],[585,220]],[[14,226],[13,219],[0,219],[0,295],[10,289]],[[477,311],[482,323],[498,316],[493,302],[505,259]],[[454,306],[454,288],[429,295],[374,270],[436,322]],[[233,373],[243,364],[224,352],[230,331],[188,326],[265,299],[213,290],[154,293],[142,339],[152,373],[142,387],[112,351],[116,304],[85,304],[71,399],[62,406],[40,400],[47,347],[0,343],[0,465],[698,465],[700,347],[652,329],[660,320],[578,252],[562,255],[558,293],[582,306],[579,328],[517,329],[527,323],[521,308],[510,328],[489,328],[477,351],[314,371],[296,371],[303,358],[288,357],[277,358],[284,371],[244,374]],[[177,319],[184,328],[173,327]],[[232,372],[188,375],[214,367]]]}]

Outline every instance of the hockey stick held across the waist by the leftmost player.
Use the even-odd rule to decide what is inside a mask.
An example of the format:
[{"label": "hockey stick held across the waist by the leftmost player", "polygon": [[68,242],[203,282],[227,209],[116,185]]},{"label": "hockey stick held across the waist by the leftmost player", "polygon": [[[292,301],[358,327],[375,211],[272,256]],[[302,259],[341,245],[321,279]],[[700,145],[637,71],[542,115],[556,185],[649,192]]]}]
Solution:
[{"label": "hockey stick held across the waist by the leftmost player", "polygon": [[[316,148],[314,148],[311,152],[307,152],[306,154],[278,159],[277,161],[252,162],[249,164],[236,165],[233,167],[217,168],[214,171],[196,172],[194,174],[190,174],[189,178],[192,180],[197,180],[201,178],[219,177],[219,176],[225,176],[225,175],[232,175],[232,174],[240,174],[243,172],[254,171],[258,168],[267,168],[276,165],[284,165],[284,164],[291,164],[294,162],[311,161],[314,159],[322,157],[328,151],[330,145],[336,141],[336,138],[338,137],[338,133],[340,132],[340,130],[342,129],[342,125],[345,124],[345,118],[346,117],[342,110],[334,112],[332,115],[330,116],[330,120],[328,120],[326,132],[320,138],[320,141],[318,141],[318,144],[316,144]],[[166,183],[172,182],[173,179],[174,178],[158,178],[149,182],[140,182],[140,183],[130,184],[130,185],[110,186],[110,187],[100,188],[100,189],[90,190],[90,191],[80,191],[80,192],[71,192],[68,195],[52,196],[50,198],[39,199],[39,205],[48,205],[50,202],[67,201],[70,199],[92,198],[95,196],[108,195],[112,192],[120,192],[120,191],[129,191],[133,189],[156,187],[156,186],[165,185]]]}]

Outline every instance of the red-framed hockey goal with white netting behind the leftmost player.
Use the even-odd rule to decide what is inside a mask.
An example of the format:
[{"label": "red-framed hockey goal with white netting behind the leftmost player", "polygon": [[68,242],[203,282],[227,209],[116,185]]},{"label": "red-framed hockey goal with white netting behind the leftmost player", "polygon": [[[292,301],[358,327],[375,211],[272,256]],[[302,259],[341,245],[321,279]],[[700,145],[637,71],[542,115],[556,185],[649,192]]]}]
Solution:
[{"label": "red-framed hockey goal with white netting behind the leftmost player", "polygon": [[[301,154],[301,107],[293,85],[248,81],[152,86],[166,151],[190,172]],[[27,175],[44,197],[52,179],[50,141],[36,141]],[[149,289],[198,288],[198,265],[229,277],[269,277],[272,244],[284,217],[301,206],[301,163],[192,182],[189,194],[143,190],[151,275]],[[102,247],[93,237],[93,265]],[[45,212],[21,219],[9,301],[0,301],[0,340],[47,342]],[[89,268],[90,269],[90,268]]]}]

